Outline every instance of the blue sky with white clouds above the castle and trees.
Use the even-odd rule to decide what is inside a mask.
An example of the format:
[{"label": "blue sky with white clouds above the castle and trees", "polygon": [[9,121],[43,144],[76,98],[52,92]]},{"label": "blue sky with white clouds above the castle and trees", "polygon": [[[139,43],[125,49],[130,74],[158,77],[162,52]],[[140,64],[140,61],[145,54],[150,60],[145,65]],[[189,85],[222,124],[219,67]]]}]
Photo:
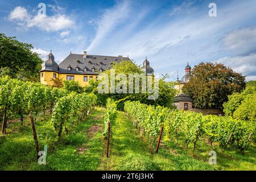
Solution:
[{"label": "blue sky with white clouds above the castle and trees", "polygon": [[[46,16],[38,4],[46,4]],[[217,17],[210,17],[209,3]],[[145,57],[169,80],[201,61],[256,80],[256,1],[0,1],[0,32],[31,43],[43,60],[72,53]]]}]

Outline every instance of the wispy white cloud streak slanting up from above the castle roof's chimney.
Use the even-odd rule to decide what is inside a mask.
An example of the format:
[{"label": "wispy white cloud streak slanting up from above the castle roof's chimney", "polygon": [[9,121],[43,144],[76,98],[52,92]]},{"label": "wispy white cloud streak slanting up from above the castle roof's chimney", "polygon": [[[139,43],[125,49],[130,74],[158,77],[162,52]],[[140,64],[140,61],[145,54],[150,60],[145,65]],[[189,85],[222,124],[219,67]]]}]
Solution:
[{"label": "wispy white cloud streak slanting up from above the castle roof's chimney", "polygon": [[129,5],[129,1],[123,1],[105,11],[101,19],[96,23],[96,37],[93,39],[92,43],[90,43],[87,51],[95,48],[110,31],[112,31],[118,26],[119,23],[122,22],[122,20],[125,20],[129,16]]}]

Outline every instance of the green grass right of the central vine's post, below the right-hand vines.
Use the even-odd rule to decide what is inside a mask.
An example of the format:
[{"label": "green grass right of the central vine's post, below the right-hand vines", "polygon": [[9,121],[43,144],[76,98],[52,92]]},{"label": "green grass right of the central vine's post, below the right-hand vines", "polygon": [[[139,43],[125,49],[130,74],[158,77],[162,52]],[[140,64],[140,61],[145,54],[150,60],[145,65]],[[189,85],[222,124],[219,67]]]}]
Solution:
[{"label": "green grass right of the central vine's post, below the right-hand vines", "polygon": [[[155,154],[156,142],[142,137],[125,114],[119,112],[112,127],[110,158],[105,159],[102,169],[108,170],[256,170],[256,150],[251,146],[245,154],[211,147],[199,140],[195,152],[192,146],[185,147],[181,136],[173,141],[162,143]],[[217,152],[217,165],[210,165],[209,151]]]}]

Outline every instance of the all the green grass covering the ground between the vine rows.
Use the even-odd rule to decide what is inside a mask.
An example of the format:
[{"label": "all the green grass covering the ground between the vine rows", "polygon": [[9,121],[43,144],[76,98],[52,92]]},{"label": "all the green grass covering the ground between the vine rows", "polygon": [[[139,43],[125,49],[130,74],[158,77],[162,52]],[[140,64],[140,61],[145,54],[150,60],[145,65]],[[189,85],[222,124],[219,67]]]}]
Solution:
[{"label": "all the green grass covering the ground between the vine rows", "polygon": [[[47,164],[35,160],[34,140],[31,126],[24,121],[11,123],[7,135],[0,135],[0,170],[256,170],[255,145],[241,154],[229,149],[224,152],[216,143],[207,144],[199,139],[195,152],[192,146],[185,147],[181,135],[161,143],[155,154],[156,142],[143,137],[125,114],[118,112],[112,126],[110,158],[106,158],[106,140],[102,131],[90,131],[92,126],[103,126],[104,109],[96,108],[92,115],[79,125],[56,138],[49,115],[36,122],[40,150],[48,146]],[[209,165],[209,151],[217,152],[217,165]]]}]

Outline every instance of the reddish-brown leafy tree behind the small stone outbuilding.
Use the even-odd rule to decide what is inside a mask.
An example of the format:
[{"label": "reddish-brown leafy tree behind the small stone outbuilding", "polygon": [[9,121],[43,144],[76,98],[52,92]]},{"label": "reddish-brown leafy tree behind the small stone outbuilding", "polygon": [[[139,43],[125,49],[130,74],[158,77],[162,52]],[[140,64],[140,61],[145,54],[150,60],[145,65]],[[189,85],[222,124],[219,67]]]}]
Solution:
[{"label": "reddish-brown leafy tree behind the small stone outbuilding", "polygon": [[200,63],[182,88],[193,99],[193,105],[204,109],[222,109],[228,96],[245,88],[245,77],[224,64]]}]

